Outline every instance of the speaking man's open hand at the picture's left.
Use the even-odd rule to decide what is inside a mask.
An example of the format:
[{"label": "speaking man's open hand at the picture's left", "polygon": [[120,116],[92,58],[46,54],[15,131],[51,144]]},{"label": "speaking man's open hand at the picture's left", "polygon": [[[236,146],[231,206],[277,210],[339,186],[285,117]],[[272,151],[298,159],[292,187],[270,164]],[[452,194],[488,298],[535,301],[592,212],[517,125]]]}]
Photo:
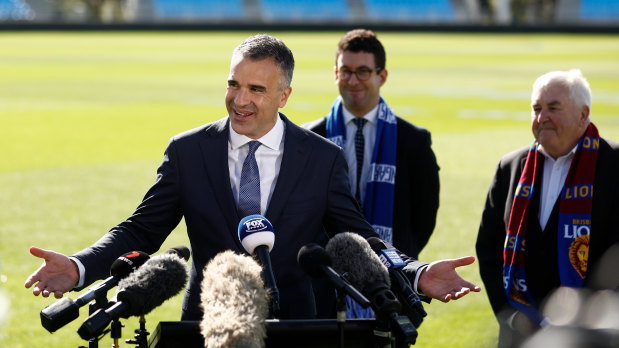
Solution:
[{"label": "speaking man's open hand at the picture's left", "polygon": [[44,260],[41,267],[32,273],[24,284],[28,289],[34,285],[34,296],[43,294],[43,297],[48,297],[53,293],[54,297],[61,298],[79,281],[77,265],[66,255],[37,247],[30,247],[30,253]]}]

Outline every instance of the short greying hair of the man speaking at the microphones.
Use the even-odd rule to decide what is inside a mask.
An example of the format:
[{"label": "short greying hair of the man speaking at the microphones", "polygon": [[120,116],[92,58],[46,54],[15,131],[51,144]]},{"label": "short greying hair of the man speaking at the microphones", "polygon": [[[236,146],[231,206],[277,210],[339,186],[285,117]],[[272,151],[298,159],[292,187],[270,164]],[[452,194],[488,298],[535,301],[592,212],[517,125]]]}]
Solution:
[{"label": "short greying hair of the man speaking at the microphones", "polygon": [[266,34],[250,36],[236,46],[232,54],[241,54],[244,58],[251,60],[271,58],[281,70],[282,77],[285,78],[281,81],[281,87],[288,87],[292,83],[292,73],[294,72],[292,51],[282,40],[276,37]]}]

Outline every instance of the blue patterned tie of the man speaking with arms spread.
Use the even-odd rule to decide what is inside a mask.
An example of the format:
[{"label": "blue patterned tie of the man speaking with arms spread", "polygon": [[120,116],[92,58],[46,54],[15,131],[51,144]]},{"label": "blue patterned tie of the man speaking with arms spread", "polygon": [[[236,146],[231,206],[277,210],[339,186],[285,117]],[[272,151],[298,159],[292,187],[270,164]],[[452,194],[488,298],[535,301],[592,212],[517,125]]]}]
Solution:
[{"label": "blue patterned tie of the man speaking with arms spread", "polygon": [[249,142],[249,153],[243,162],[239,187],[239,214],[241,217],[260,214],[260,171],[256,162],[257,140]]}]

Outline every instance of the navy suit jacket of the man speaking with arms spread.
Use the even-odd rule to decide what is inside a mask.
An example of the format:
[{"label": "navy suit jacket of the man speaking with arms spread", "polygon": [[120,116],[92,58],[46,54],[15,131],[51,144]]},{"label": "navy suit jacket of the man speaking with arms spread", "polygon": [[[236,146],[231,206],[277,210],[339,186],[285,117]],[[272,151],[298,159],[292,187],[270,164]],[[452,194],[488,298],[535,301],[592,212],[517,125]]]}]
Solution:
[{"label": "navy suit jacket of the man speaking with arms spread", "polygon": [[[310,279],[296,261],[299,249],[325,232],[376,234],[356,208],[342,150],[280,116],[286,129],[284,154],[265,214],[275,230],[271,260],[280,318],[311,318],[314,298]],[[125,252],[156,252],[184,217],[192,259],[182,319],[201,319],[205,265],[226,249],[245,252],[237,235],[243,216],[237,212],[228,171],[228,127],[226,117],[170,140],[156,182],[133,215],[74,255],[86,268],[86,285],[108,276],[112,262]]]}]

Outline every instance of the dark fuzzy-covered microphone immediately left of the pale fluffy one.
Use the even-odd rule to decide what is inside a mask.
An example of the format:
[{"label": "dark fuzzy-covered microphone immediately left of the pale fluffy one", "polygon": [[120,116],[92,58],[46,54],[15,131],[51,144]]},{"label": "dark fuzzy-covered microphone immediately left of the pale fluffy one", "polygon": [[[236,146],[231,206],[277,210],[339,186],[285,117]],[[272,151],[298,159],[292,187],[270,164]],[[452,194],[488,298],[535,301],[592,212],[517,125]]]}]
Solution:
[{"label": "dark fuzzy-covered microphone immediately left of the pale fluffy one", "polygon": [[100,308],[91,314],[77,333],[89,340],[100,335],[112,320],[146,315],[178,294],[186,283],[186,260],[176,252],[157,255],[121,280],[116,301],[110,307]]}]

